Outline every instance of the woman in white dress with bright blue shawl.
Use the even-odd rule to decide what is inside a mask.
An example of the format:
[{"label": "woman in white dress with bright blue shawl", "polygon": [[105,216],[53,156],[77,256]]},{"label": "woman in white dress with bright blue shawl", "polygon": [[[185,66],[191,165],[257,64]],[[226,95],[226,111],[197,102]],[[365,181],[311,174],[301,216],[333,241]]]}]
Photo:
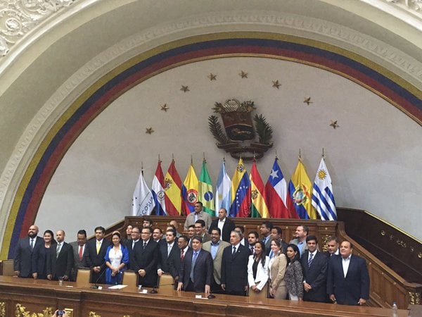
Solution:
[{"label": "woman in white dress with bright blue shawl", "polygon": [[122,273],[127,269],[129,264],[129,251],[122,244],[122,238],[119,232],[113,232],[111,241],[113,242],[106,251],[106,283],[121,284]]}]

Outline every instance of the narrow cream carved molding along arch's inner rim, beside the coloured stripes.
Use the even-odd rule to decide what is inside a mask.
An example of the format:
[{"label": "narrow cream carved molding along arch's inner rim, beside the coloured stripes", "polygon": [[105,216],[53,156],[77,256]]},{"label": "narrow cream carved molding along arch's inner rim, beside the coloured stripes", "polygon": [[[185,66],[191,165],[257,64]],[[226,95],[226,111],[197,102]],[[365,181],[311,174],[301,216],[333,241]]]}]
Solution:
[{"label": "narrow cream carved molding along arch's inner rim, beside the coloured stripes", "polygon": [[[321,40],[321,38],[324,38],[325,42],[337,46],[339,43],[344,43],[345,47],[349,49],[352,47],[355,52],[367,58],[374,58],[375,56],[380,58],[391,68],[407,74],[414,78],[415,82],[422,85],[422,63],[378,39],[325,20],[283,12],[230,11],[188,16],[180,20],[156,25],[123,39],[91,59],[64,82],[46,104],[40,108],[20,137],[11,159],[9,159],[1,175],[0,223],[6,226],[12,201],[12,199],[5,199],[6,194],[8,197],[15,195],[22,175],[32,159],[34,152],[32,149],[37,149],[46,132],[77,97],[78,92],[86,89],[122,61],[126,61],[128,58],[155,46],[188,36],[233,30],[239,32],[251,30],[282,32],[289,35],[298,35],[299,32],[311,39],[319,38]],[[5,203],[5,201],[7,202]],[[0,237],[0,240],[3,240],[3,237]]]}]

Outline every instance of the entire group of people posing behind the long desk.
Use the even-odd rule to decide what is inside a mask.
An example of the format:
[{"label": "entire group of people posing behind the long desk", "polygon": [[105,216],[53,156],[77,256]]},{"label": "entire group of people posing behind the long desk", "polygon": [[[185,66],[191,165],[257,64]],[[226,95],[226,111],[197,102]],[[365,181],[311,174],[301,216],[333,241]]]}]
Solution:
[{"label": "entire group of people posing behind the long desk", "polygon": [[262,223],[260,234],[245,237],[243,226],[227,218],[225,209],[212,220],[200,202],[186,217],[186,235],[177,231],[176,220],[165,232],[152,225],[143,218],[141,228],[129,225],[126,237],[113,232],[111,242],[104,239],[103,227],[95,228],[89,241],[79,230],[70,244],[63,230],[56,240],[51,230],[41,238],[32,225],[16,247],[15,274],[76,280],[78,268],[91,268],[91,282],[120,284],[123,271],[131,269],[144,287],[157,287],[158,277],[171,275],[179,291],[245,295],[264,292],[268,284],[269,296],[277,299],[362,305],[369,298],[366,263],[352,254],[352,244],[330,237],[328,251],[321,252],[306,225],[298,226],[289,243],[270,221]]}]

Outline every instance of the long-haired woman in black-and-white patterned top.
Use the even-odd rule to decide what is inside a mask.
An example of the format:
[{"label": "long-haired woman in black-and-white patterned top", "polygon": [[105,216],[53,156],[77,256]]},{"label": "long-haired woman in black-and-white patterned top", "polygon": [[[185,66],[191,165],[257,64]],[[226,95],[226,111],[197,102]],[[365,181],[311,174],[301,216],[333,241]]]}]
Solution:
[{"label": "long-haired woman in black-and-white patterned top", "polygon": [[300,265],[300,253],[296,244],[288,244],[287,249],[287,268],[284,273],[288,298],[292,301],[301,301],[303,298],[303,273]]}]

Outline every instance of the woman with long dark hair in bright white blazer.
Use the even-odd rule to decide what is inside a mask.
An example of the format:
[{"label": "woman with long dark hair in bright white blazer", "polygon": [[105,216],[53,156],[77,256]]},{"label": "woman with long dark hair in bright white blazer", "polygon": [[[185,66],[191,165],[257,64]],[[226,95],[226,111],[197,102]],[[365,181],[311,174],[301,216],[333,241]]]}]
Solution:
[{"label": "woman with long dark hair in bright white blazer", "polygon": [[262,241],[255,243],[255,254],[249,256],[248,284],[249,292],[261,292],[268,280],[269,257],[265,255],[265,244]]}]

